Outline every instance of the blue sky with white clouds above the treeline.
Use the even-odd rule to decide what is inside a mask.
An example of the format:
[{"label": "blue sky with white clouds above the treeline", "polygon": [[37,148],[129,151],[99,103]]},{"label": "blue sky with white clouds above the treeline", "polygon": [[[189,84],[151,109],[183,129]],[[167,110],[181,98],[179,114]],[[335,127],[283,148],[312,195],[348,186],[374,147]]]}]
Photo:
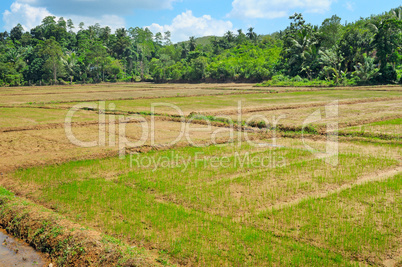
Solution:
[{"label": "blue sky with white clouds above the treeline", "polygon": [[1,0],[0,30],[10,31],[18,23],[30,30],[53,15],[72,19],[76,28],[84,22],[113,30],[170,31],[172,41],[178,42],[249,27],[258,34],[270,34],[285,29],[295,12],[320,25],[332,15],[353,22],[400,5],[400,0]]}]

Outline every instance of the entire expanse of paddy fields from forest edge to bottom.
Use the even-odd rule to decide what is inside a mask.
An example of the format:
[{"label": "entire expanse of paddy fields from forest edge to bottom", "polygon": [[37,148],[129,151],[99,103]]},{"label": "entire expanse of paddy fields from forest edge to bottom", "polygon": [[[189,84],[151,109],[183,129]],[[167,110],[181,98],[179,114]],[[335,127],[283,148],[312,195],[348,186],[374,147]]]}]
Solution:
[{"label": "entire expanse of paddy fields from forest edge to bottom", "polygon": [[401,119],[401,87],[0,88],[0,223],[59,265],[400,266]]}]

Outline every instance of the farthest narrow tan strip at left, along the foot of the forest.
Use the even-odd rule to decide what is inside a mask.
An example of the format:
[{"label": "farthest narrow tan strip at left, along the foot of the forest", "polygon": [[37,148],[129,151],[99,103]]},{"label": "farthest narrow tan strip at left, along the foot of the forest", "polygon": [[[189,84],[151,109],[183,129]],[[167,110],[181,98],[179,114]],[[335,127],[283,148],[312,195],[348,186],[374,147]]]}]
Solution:
[{"label": "farthest narrow tan strip at left, along the foot of the forest", "polygon": [[0,104],[22,105],[85,100],[141,99],[159,97],[185,97],[196,95],[227,95],[238,92],[269,91],[252,85],[155,85],[155,84],[100,84],[75,86],[47,86],[2,88]]}]

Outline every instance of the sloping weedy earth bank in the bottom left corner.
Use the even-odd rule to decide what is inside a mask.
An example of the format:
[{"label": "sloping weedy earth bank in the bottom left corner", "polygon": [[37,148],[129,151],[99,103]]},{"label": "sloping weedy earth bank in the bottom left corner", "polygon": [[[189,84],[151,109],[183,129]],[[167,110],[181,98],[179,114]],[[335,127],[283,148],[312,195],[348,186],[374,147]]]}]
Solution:
[{"label": "sloping weedy earth bank in the bottom left corner", "polygon": [[2,187],[0,227],[37,251],[47,253],[49,260],[57,266],[123,267],[158,264],[153,255],[143,248],[127,246],[116,238],[73,224],[63,216],[16,197]]}]

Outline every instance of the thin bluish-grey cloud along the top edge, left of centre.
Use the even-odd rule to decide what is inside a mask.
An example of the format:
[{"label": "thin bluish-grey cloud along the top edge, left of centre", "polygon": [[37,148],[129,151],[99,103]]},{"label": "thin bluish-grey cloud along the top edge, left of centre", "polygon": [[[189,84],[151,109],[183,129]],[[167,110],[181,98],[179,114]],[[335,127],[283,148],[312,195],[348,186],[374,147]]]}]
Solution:
[{"label": "thin bluish-grey cloud along the top edge, left of centre", "polygon": [[125,15],[134,9],[170,9],[180,0],[18,0],[34,7],[46,7],[54,14],[100,16]]}]

